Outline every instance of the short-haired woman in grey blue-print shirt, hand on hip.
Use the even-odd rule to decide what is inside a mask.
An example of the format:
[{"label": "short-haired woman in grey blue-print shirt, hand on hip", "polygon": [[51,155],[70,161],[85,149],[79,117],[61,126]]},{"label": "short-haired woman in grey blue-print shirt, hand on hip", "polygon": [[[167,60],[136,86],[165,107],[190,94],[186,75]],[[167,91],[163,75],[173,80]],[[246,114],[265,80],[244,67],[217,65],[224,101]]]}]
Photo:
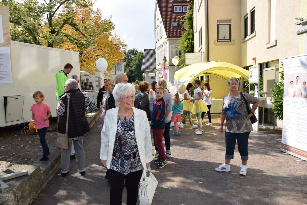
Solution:
[{"label": "short-haired woman in grey blue-print shirt, hand on hip", "polygon": [[223,123],[226,119],[225,125],[225,145],[226,154],[224,164],[221,164],[215,170],[218,172],[230,171],[230,160],[233,159],[235,151],[235,143],[238,141],[238,150],[241,155],[242,166],[240,170],[241,175],[246,175],[247,160],[248,160],[248,137],[253,127],[249,119],[258,107],[259,99],[242,92],[249,104],[253,104],[251,114],[247,113],[247,105],[238,91],[239,80],[237,78],[230,78],[228,80],[229,94],[223,97],[223,106],[220,117],[220,132],[223,133]]}]

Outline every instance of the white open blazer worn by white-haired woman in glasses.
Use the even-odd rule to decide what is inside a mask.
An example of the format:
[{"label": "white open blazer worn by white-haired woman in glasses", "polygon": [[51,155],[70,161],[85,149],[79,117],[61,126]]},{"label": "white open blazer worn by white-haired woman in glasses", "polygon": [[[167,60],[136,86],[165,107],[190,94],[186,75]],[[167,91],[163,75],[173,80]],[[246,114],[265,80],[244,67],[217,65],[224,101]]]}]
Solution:
[{"label": "white open blazer worn by white-haired woman in glasses", "polygon": [[[146,170],[146,163],[151,162],[153,159],[150,126],[145,111],[135,107],[132,109],[134,113],[135,139],[142,165]],[[118,110],[119,108],[116,107],[107,111],[106,117],[104,118],[103,129],[101,130],[100,160],[107,160],[107,169],[110,168],[112,160],[117,130]]]}]

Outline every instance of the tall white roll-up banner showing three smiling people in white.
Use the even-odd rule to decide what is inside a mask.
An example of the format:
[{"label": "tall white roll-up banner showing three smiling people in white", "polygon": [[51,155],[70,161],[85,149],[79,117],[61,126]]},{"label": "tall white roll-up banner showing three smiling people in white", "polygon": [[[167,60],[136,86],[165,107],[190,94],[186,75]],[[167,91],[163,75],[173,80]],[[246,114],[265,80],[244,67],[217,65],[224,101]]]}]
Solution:
[{"label": "tall white roll-up banner showing three smiling people in white", "polygon": [[307,55],[284,58],[281,150],[307,161]]}]

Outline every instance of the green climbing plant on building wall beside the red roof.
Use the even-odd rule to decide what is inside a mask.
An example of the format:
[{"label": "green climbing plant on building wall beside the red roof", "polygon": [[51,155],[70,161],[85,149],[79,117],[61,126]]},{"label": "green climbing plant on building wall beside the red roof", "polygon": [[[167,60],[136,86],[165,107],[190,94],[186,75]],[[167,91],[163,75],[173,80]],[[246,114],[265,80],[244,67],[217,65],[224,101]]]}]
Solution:
[{"label": "green climbing plant on building wall beside the red roof", "polygon": [[188,6],[188,12],[184,15],[183,27],[186,32],[182,34],[179,39],[180,45],[177,47],[181,50],[181,59],[179,59],[180,66],[185,65],[185,53],[194,53],[194,32],[193,32],[193,2],[194,0],[187,0],[190,5]]}]

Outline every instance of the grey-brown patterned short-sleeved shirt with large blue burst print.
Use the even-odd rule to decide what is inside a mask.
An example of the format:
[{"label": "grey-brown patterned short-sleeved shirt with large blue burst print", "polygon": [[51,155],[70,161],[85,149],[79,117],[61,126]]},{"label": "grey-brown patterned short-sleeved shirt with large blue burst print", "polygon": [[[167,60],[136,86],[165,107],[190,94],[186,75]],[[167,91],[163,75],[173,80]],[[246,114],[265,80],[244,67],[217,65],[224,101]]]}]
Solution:
[{"label": "grey-brown patterned short-sleeved shirt with large blue burst print", "polygon": [[[259,104],[259,99],[246,92],[242,92],[245,99],[250,104]],[[226,132],[244,133],[253,131],[250,119],[246,119],[248,114],[246,103],[241,94],[230,97],[229,93],[223,97],[221,115],[226,115]]]}]

